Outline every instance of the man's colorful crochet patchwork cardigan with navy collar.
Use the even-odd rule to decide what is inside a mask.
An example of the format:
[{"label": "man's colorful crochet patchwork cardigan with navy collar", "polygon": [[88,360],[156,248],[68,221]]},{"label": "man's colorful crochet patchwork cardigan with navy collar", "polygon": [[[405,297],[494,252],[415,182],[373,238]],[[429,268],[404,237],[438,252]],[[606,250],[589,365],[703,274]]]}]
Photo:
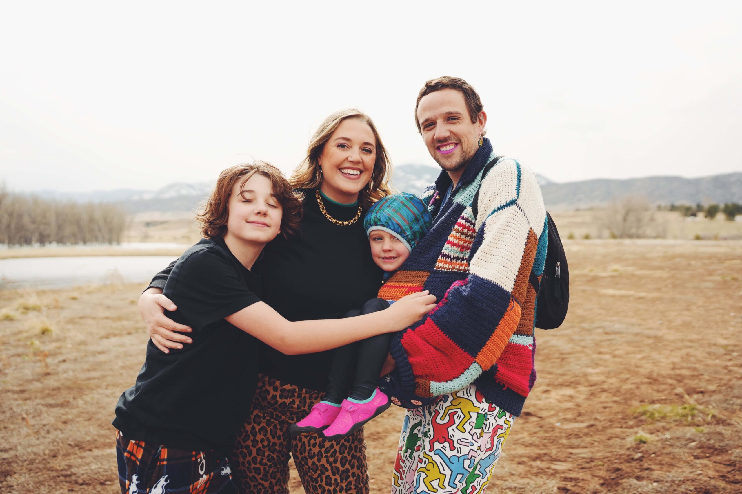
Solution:
[{"label": "man's colorful crochet patchwork cardigan with navy collar", "polygon": [[488,401],[520,415],[536,380],[536,292],[528,277],[542,275],[548,229],[536,176],[510,158],[485,176],[474,218],[473,198],[495,156],[485,138],[446,204],[446,172],[426,188],[433,227],[379,297],[430,290],[439,300],[393,335],[390,352],[404,389],[436,396],[474,383]]}]

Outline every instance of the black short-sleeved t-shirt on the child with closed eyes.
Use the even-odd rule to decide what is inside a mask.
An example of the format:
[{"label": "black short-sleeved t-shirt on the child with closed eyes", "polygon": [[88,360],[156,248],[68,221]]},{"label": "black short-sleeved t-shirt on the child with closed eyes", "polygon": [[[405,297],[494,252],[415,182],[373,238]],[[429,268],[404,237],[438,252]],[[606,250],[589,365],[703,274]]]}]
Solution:
[{"label": "black short-sleeved t-shirt on the child with closed eyes", "polygon": [[193,328],[193,343],[162,353],[148,342],[114,427],[125,438],[181,450],[231,447],[255,393],[258,341],[224,318],[260,301],[263,280],[223,239],[204,238],[180,256],[163,294],[177,305],[168,317]]}]

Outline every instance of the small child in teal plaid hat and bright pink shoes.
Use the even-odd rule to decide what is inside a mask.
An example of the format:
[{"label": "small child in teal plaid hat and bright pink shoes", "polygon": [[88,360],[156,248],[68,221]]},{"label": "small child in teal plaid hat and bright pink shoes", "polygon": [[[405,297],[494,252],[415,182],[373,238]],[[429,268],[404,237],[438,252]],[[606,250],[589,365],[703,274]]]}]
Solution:
[{"label": "small child in teal plaid hat and bright pink shoes", "polygon": [[[384,281],[404,263],[423,238],[433,220],[424,202],[410,193],[379,199],[364,218],[364,229],[371,244],[373,261],[381,267]],[[346,317],[386,309],[394,301],[373,298],[360,310]],[[335,350],[325,397],[312,407],[305,418],[292,424],[292,434],[322,433],[326,438],[341,438],[358,430],[367,421],[384,412],[394,401],[400,406],[418,407],[435,398],[418,398],[395,386],[394,375],[381,380],[384,389],[394,390],[390,398],[379,389],[379,375],[389,351],[389,334],[381,334]]]}]

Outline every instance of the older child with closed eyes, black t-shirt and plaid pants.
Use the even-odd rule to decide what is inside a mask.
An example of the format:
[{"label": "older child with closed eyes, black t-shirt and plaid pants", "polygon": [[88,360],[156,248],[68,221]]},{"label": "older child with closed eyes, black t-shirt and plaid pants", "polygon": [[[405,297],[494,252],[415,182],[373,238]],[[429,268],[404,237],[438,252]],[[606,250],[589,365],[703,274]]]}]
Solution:
[{"label": "older child with closed eyes, black t-shirt and plaid pants", "polygon": [[[434,307],[417,294],[379,313],[343,320],[286,321],[260,301],[258,256],[301,218],[301,197],[264,162],[224,170],[205,212],[203,238],[183,253],[163,294],[169,317],[193,343],[163,353],[150,340],[134,387],[116,404],[122,493],[236,493],[226,453],[248,415],[258,338],[283,353],[314,353],[402,330]],[[413,294],[415,295],[415,294]]]}]

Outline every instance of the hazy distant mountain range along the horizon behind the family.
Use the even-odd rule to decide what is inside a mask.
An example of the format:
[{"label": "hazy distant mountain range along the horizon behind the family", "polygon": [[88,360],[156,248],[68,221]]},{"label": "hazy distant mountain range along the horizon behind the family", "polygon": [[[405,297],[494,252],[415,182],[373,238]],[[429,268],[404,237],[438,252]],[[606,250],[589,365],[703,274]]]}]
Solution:
[{"label": "hazy distant mountain range along the horizon behind the family", "polygon": [[[401,164],[394,168],[392,185],[401,192],[420,194],[427,184],[438,178],[441,169],[426,164]],[[742,202],[742,173],[727,173],[701,178],[645,177],[614,180],[599,178],[559,184],[536,174],[541,184],[546,207],[574,209],[600,207],[614,198],[639,195],[653,204],[706,204],[709,202]],[[158,190],[96,190],[88,193],[37,192],[45,198],[79,202],[119,202],[131,213],[157,211],[190,212],[209,196],[211,182],[192,184],[177,182]]]}]

